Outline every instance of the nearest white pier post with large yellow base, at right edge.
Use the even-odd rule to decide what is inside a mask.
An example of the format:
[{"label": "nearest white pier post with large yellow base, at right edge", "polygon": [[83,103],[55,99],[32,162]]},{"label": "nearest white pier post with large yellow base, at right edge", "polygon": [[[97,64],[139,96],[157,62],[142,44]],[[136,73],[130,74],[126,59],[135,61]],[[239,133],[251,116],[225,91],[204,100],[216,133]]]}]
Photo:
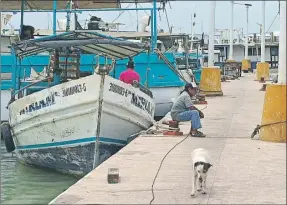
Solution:
[{"label": "nearest white pier post with large yellow base, at right edge", "polygon": [[[274,124],[276,123],[276,124]],[[278,83],[267,84],[259,138],[286,143],[286,1],[280,1]]]}]

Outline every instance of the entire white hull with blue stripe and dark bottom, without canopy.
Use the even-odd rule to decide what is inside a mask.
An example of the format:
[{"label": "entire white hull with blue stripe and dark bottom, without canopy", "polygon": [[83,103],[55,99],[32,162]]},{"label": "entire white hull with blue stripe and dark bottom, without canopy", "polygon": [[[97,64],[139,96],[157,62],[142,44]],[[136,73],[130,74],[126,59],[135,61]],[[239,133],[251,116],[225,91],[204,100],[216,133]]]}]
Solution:
[{"label": "entire white hull with blue stripe and dark bottom, without canopy", "polygon": [[[78,92],[71,89],[75,86]],[[96,139],[100,142],[101,163],[125,146],[132,134],[152,125],[152,98],[109,76],[103,84],[99,118],[100,88],[101,76],[95,74],[13,102],[9,106],[10,125],[19,161],[82,176],[93,169]],[[145,100],[141,107],[134,96]],[[33,102],[38,102],[38,107],[40,102],[46,106],[33,110]]]}]

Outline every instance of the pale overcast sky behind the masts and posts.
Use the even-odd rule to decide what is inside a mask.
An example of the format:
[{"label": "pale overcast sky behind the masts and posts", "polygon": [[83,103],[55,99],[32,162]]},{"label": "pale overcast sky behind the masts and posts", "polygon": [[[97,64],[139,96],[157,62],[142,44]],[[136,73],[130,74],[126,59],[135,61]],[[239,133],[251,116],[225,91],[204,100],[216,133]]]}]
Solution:
[{"label": "pale overcast sky behind the masts and posts", "polygon": [[[259,33],[259,24],[262,23],[261,1],[235,1],[236,3],[249,3],[252,7],[249,8],[249,27],[248,33]],[[265,12],[265,31],[279,31],[279,3],[278,1],[266,1],[266,12]],[[125,8],[128,4],[122,4],[122,8]],[[140,4],[138,7],[151,7],[151,3]],[[171,6],[171,8],[170,8]],[[210,1],[181,1],[181,2],[170,2],[166,5],[166,13],[170,26],[174,26],[173,32],[191,33],[191,14],[196,13],[194,33],[205,33],[209,32],[209,10]],[[131,6],[131,7],[134,7]],[[230,27],[230,1],[216,1],[215,11],[215,28],[216,29],[229,29]],[[79,15],[80,23],[84,22],[89,15],[96,15],[101,17],[106,22],[114,21],[119,15],[117,12],[84,12]],[[139,20],[147,15],[144,11],[139,11]],[[277,15],[277,17],[276,17]],[[65,14],[57,14],[59,18],[64,18]],[[158,19],[158,26],[164,31],[168,31],[168,23],[166,14],[163,11],[160,12],[160,18]],[[36,17],[36,18],[35,18]],[[275,18],[276,17],[276,18]],[[275,20],[274,20],[275,19]],[[47,29],[52,28],[52,14],[48,13],[25,13],[24,24],[32,25],[36,29]],[[274,21],[274,22],[273,22]],[[19,28],[20,14],[18,13],[12,18],[11,25],[14,28]],[[125,30],[136,30],[136,12],[126,11],[124,12],[115,22],[124,23],[122,29]],[[273,22],[273,23],[272,23]],[[139,24],[139,28],[141,25]],[[270,27],[270,28],[269,28]],[[9,28],[6,27],[6,28]],[[244,5],[234,5],[234,29],[243,28],[245,33],[246,28],[246,8]],[[269,30],[268,30],[269,29]]]}]

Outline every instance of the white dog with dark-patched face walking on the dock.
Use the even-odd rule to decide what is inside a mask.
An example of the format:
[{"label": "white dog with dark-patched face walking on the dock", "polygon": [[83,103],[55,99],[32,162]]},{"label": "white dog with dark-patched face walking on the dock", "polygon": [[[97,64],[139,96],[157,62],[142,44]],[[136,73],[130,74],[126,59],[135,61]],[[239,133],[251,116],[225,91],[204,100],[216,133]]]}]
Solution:
[{"label": "white dog with dark-patched face walking on the dock", "polygon": [[211,166],[207,150],[198,148],[192,152],[193,183],[191,196],[194,196],[195,189],[206,194],[206,177]]}]

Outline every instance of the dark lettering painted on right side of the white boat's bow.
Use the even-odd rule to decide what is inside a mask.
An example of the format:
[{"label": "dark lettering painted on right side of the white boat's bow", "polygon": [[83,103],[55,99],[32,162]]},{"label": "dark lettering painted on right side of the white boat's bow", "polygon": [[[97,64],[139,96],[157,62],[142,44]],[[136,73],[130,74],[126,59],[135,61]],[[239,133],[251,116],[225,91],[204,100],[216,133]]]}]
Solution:
[{"label": "dark lettering painted on right side of the white boat's bow", "polygon": [[131,95],[131,104],[135,105],[136,107],[147,111],[150,115],[152,114],[153,108],[152,108],[152,103],[149,102],[147,99],[144,97],[136,95],[134,92],[123,88],[119,85],[116,85],[114,83],[110,83],[110,88],[109,91],[117,93],[119,95],[128,97]]}]

